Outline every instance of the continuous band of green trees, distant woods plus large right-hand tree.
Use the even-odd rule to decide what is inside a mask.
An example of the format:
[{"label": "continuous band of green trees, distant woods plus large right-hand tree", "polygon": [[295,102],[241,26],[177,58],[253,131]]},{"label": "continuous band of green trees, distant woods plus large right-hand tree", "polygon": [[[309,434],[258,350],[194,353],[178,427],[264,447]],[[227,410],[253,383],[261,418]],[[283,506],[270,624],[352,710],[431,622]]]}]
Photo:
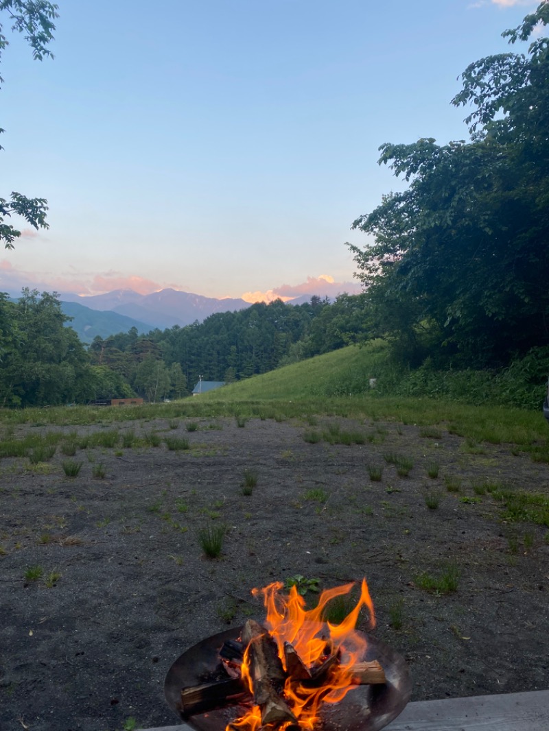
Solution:
[{"label": "continuous band of green trees, distant woods plus large right-hand tree", "polygon": [[527,53],[488,56],[463,72],[452,103],[469,107],[468,141],[381,145],[380,164],[408,188],[354,221],[369,237],[364,248],[350,247],[361,295],[256,303],[146,336],[133,329],[95,338],[88,351],[64,327],[55,293],[25,289],[15,303],[0,295],[0,405],[179,398],[200,376],[246,379],[374,338],[387,344],[395,393],[400,374],[411,372],[411,385],[427,393],[450,371],[505,371],[517,393],[515,382],[542,383],[549,372],[548,23],[542,2],[504,31],[511,44],[530,42]]}]

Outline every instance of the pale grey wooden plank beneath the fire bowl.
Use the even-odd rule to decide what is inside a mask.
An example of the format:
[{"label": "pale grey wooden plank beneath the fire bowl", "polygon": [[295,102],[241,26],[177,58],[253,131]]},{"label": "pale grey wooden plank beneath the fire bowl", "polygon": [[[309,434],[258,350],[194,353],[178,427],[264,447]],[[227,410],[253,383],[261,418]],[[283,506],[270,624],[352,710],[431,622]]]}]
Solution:
[{"label": "pale grey wooden plank beneath the fire bowl", "polygon": [[[549,690],[408,703],[386,731],[549,731]],[[187,724],[141,731],[192,731]],[[220,730],[223,731],[223,730]]]}]

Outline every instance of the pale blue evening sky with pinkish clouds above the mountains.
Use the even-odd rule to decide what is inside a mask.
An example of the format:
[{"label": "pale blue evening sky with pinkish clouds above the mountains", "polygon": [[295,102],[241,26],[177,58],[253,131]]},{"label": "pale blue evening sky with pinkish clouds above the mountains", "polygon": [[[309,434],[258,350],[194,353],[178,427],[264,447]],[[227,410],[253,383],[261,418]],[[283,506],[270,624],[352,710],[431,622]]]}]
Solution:
[{"label": "pale blue evening sky with pinkish clouds above the mountains", "polygon": [[379,145],[466,138],[458,75],[537,7],[58,1],[55,60],[13,34],[1,60],[0,197],[47,198],[51,228],[2,251],[0,289],[249,300],[349,289],[352,221],[401,186]]}]

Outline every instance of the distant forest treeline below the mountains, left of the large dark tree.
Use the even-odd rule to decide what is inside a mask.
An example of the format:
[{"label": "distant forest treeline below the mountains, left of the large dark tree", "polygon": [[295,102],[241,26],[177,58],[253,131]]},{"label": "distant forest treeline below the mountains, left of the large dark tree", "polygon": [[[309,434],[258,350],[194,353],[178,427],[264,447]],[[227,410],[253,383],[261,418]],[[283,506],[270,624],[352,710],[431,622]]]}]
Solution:
[{"label": "distant forest treeline below the mountains, left of the large dark tree", "polygon": [[55,292],[0,295],[0,406],[182,398],[200,376],[233,382],[358,342],[365,306],[365,295],[345,294],[256,303],[187,327],[97,337],[86,350]]}]

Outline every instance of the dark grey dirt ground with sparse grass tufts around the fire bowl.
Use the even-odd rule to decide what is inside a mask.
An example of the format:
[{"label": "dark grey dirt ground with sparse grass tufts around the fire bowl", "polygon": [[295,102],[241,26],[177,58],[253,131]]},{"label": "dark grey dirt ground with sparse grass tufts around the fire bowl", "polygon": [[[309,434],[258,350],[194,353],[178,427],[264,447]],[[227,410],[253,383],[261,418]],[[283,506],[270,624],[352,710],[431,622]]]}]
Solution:
[{"label": "dark grey dirt ground with sparse grass tufts around the fire bowl", "polygon": [[[412,700],[549,687],[548,529],[502,522],[501,504],[474,491],[488,480],[547,492],[549,465],[509,445],[471,453],[458,436],[421,436],[413,425],[197,422],[193,432],[185,420],[119,425],[185,437],[190,449],[88,447],[74,478],[60,445],[45,464],[1,461],[2,731],[177,723],[163,697],[171,664],[203,637],[261,621],[250,589],[295,575],[321,588],[367,577],[373,635],[408,661]],[[328,423],[372,441],[305,441]],[[388,452],[413,459],[408,477]],[[384,468],[380,482],[372,464]],[[246,469],[258,477],[248,496]],[[223,553],[208,559],[198,531],[220,523]],[[449,563],[457,591],[419,587],[422,572],[436,577]]]}]

